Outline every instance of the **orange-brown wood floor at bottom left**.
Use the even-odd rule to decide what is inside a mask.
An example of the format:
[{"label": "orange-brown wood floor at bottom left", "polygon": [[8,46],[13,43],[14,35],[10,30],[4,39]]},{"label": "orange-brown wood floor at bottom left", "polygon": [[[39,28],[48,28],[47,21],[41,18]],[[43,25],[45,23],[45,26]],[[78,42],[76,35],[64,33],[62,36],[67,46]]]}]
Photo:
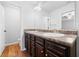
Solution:
[{"label": "orange-brown wood floor at bottom left", "polygon": [[26,51],[21,51],[19,44],[6,46],[1,57],[29,57]]}]

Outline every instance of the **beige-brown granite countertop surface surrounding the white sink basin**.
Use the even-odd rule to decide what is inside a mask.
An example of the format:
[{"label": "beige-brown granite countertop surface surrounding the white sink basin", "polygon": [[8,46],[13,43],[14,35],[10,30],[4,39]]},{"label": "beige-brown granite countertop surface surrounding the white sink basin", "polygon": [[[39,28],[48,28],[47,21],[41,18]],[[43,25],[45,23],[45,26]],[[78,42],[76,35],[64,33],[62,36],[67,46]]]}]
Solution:
[{"label": "beige-brown granite countertop surface surrounding the white sink basin", "polygon": [[47,33],[47,32],[41,32],[41,31],[25,31],[25,32],[45,38],[50,41],[54,41],[54,42],[69,46],[69,47],[72,47],[74,45],[75,40],[77,38],[77,35],[72,35],[72,34],[64,34],[64,36],[61,36],[61,37],[53,37],[50,35],[49,36],[43,35],[44,33]]}]

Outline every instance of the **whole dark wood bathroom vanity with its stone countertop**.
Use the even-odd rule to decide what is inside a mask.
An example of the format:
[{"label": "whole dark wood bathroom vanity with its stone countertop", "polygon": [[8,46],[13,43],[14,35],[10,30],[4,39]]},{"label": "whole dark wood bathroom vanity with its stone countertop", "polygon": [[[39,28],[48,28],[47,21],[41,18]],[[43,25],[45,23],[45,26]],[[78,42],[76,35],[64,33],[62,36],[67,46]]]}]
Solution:
[{"label": "whole dark wood bathroom vanity with its stone countertop", "polygon": [[76,35],[25,31],[25,48],[32,57],[76,56]]}]

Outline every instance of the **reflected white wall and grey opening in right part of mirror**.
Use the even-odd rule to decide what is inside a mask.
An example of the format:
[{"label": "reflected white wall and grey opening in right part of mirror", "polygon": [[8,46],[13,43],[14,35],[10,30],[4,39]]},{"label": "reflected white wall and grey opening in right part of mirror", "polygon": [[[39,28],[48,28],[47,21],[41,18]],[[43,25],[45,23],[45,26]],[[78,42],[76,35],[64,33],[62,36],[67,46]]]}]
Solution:
[{"label": "reflected white wall and grey opening in right part of mirror", "polygon": [[75,2],[68,2],[61,8],[52,11],[48,20],[50,30],[75,29]]}]

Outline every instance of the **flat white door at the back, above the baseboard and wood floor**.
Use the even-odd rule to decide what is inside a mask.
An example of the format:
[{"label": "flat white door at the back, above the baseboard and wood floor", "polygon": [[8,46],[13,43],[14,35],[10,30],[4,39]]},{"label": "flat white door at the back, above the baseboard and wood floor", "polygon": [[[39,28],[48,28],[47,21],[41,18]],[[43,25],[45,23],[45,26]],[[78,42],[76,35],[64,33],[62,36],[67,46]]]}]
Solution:
[{"label": "flat white door at the back, above the baseboard and wood floor", "polygon": [[5,7],[6,44],[17,42],[20,38],[20,8]]}]

